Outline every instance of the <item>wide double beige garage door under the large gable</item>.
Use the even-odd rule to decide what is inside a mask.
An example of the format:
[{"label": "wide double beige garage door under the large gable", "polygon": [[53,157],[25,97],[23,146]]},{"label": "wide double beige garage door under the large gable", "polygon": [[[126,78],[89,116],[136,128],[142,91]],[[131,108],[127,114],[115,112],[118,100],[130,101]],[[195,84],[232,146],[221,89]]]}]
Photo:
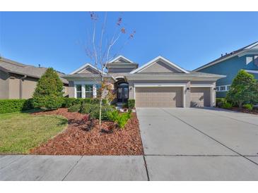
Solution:
[{"label": "wide double beige garage door under the large gable", "polygon": [[136,87],[136,107],[182,107],[182,87]]}]

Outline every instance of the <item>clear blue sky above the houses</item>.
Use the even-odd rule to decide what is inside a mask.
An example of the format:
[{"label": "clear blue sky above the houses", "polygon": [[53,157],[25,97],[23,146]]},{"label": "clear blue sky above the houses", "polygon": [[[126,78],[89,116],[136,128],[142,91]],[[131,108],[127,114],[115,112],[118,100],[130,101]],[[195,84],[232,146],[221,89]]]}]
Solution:
[{"label": "clear blue sky above the houses", "polygon": [[[120,15],[136,35],[119,54],[140,66],[161,55],[193,70],[258,41],[258,12],[109,12],[107,31]],[[90,61],[84,50],[90,27],[88,12],[0,12],[0,54],[71,73]]]}]

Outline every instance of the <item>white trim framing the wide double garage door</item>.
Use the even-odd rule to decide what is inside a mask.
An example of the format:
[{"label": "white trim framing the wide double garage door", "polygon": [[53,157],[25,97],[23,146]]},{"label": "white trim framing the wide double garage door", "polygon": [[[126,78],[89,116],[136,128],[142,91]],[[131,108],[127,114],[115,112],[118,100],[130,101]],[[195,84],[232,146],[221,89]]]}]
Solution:
[{"label": "white trim framing the wide double garage door", "polygon": [[136,87],[182,87],[182,96],[183,96],[183,107],[185,107],[185,87],[187,84],[182,84],[182,83],[146,83],[146,84],[141,84],[141,83],[135,83],[134,84],[134,99],[135,97],[135,88]]}]

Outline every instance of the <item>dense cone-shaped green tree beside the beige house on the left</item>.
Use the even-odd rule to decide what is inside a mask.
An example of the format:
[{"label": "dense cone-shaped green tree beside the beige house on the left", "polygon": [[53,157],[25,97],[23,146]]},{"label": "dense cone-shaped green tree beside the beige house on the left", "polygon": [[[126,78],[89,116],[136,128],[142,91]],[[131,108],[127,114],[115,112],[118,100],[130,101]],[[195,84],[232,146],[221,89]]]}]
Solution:
[{"label": "dense cone-shaped green tree beside the beige house on the left", "polygon": [[63,82],[53,68],[47,68],[46,72],[37,82],[33,94],[33,106],[43,109],[54,109],[61,107],[64,97],[62,92]]}]

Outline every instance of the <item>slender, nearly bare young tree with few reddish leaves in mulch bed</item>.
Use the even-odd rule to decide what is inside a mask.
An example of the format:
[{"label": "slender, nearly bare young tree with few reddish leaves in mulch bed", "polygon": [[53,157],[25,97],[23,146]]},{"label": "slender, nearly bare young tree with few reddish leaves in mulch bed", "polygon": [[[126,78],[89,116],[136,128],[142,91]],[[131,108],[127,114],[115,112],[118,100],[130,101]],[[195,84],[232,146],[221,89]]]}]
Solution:
[{"label": "slender, nearly bare young tree with few reddish leaves in mulch bed", "polygon": [[[127,35],[127,31],[122,23],[122,17],[118,17],[114,22],[113,32],[107,32],[107,13],[105,13],[104,19],[100,21],[96,13],[90,12],[90,20],[93,23],[93,28],[89,33],[91,35],[88,38],[86,54],[93,62],[93,65],[99,69],[95,82],[102,85],[102,89],[100,89],[99,117],[99,124],[101,125],[102,99],[110,96],[110,82],[107,81],[107,63],[118,56],[119,51],[134,37],[136,32],[133,30]],[[98,24],[101,27],[98,27]],[[122,37],[123,35],[127,35],[127,37]],[[119,41],[120,39],[122,39],[122,42]]]}]

